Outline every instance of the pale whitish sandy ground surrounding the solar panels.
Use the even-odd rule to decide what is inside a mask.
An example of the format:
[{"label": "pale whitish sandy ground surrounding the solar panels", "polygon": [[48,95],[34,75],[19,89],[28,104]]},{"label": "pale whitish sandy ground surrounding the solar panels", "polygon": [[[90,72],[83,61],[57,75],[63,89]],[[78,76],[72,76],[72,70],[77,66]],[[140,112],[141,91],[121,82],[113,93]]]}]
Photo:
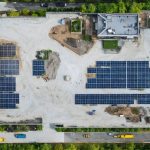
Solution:
[{"label": "pale whitish sandy ground surrounding the solar panels", "polygon": [[[141,32],[140,44],[127,41],[119,54],[104,54],[101,41],[97,41],[88,54],[78,56],[48,36],[50,29],[59,25],[59,20],[64,17],[66,14],[51,14],[47,19],[1,18],[0,38],[18,43],[22,64],[20,75],[17,76],[20,104],[16,110],[0,110],[1,120],[15,121],[41,116],[44,130],[49,128],[49,123],[99,127],[147,126],[143,122],[126,123],[122,117],[105,113],[106,105],[75,105],[74,94],[149,93],[149,90],[86,89],[85,83],[87,67],[94,65],[96,60],[149,60],[150,30]],[[52,49],[60,55],[61,64],[55,80],[45,82],[32,76],[32,60],[36,51],[41,49]],[[64,81],[64,75],[70,75],[71,81]],[[86,112],[92,109],[96,110],[96,115],[87,115]]]}]

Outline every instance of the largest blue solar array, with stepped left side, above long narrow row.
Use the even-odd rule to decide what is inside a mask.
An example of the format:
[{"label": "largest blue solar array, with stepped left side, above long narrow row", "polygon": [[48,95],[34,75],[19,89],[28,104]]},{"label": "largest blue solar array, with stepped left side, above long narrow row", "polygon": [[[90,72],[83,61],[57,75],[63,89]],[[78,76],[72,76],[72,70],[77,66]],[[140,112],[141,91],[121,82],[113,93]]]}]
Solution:
[{"label": "largest blue solar array, with stepped left side, above long narrow row", "polygon": [[149,61],[97,61],[86,88],[150,88]]}]

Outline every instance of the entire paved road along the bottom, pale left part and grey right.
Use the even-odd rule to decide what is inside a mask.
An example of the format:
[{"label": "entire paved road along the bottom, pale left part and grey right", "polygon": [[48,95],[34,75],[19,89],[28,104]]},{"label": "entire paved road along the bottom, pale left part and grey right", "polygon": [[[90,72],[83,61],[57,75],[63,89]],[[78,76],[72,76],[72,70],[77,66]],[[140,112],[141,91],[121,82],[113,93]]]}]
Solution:
[{"label": "entire paved road along the bottom, pale left part and grey right", "polygon": [[90,138],[83,138],[83,133],[59,133],[51,129],[30,131],[25,134],[26,139],[17,139],[14,133],[0,133],[0,137],[4,137],[6,143],[150,143],[150,133],[133,133],[134,139],[113,138],[104,132],[90,133]]}]

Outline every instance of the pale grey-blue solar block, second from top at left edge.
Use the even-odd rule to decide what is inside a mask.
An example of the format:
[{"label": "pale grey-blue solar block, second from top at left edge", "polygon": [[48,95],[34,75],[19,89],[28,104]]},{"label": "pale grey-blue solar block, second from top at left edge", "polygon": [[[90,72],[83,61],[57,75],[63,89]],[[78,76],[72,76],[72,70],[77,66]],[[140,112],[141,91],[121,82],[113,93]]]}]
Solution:
[{"label": "pale grey-blue solar block, second from top at left edge", "polygon": [[19,75],[19,60],[0,59],[0,75]]}]

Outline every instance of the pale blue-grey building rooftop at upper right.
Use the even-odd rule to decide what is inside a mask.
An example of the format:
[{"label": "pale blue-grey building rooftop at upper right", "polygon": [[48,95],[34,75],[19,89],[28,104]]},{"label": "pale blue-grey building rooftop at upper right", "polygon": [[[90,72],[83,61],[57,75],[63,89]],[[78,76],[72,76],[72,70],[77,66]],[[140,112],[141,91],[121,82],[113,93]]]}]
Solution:
[{"label": "pale blue-grey building rooftop at upper right", "polygon": [[137,37],[138,14],[97,14],[96,30],[98,37]]}]

